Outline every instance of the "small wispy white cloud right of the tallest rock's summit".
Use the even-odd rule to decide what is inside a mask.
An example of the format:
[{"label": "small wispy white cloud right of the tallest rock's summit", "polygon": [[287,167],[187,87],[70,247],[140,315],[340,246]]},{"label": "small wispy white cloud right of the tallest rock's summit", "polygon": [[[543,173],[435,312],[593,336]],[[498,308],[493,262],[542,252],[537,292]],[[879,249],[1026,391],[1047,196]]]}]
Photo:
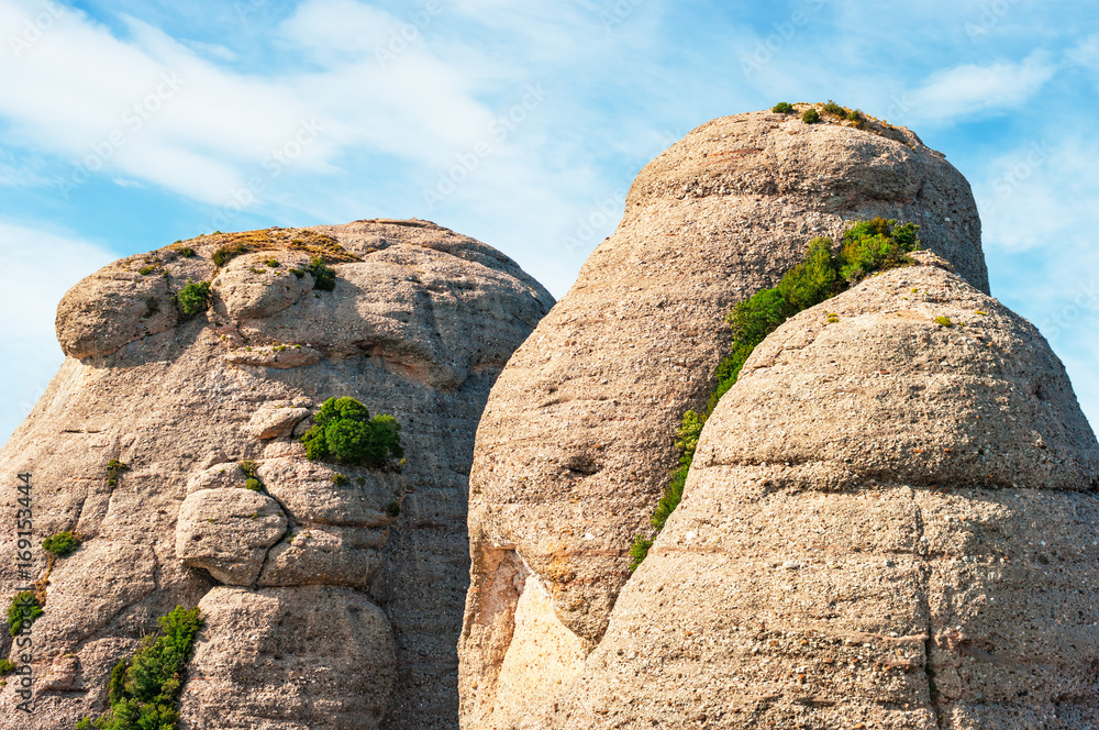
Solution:
[{"label": "small wispy white cloud right of the tallest rock's summit", "polygon": [[950,122],[1013,109],[1033,97],[1056,70],[1044,53],[1035,52],[1018,63],[964,64],[937,71],[909,95],[907,119]]}]

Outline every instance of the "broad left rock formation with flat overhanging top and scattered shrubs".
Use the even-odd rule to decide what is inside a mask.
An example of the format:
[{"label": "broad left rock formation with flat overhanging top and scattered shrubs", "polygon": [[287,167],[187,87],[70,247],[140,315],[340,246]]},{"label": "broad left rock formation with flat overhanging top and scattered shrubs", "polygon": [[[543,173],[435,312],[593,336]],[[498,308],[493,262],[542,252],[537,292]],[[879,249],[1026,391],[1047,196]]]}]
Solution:
[{"label": "broad left rock formation with flat overhanging top and scattered shrubs", "polygon": [[[193,318],[188,280],[212,281]],[[0,452],[4,512],[31,473],[34,515],[25,575],[10,518],[0,534],[4,598],[48,572],[34,714],[9,683],[0,728],[102,712],[112,667],[176,605],[206,617],[181,728],[453,728],[474,433],[552,305],[499,252],[414,220],[201,236],[74,287],[68,358]],[[396,417],[401,473],[304,457],[297,436],[343,396]],[[37,542],[63,530],[84,543],[47,567]]]}]

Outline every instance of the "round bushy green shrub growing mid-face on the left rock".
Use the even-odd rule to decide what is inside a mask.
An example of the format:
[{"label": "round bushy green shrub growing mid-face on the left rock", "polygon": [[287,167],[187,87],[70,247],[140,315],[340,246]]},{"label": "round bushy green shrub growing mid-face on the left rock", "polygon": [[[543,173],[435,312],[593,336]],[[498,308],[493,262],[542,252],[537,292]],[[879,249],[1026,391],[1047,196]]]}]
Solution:
[{"label": "round bushy green shrub growing mid-face on the left rock", "polygon": [[400,424],[392,416],[370,418],[354,398],[329,398],[301,436],[307,457],[381,467],[404,455]]}]

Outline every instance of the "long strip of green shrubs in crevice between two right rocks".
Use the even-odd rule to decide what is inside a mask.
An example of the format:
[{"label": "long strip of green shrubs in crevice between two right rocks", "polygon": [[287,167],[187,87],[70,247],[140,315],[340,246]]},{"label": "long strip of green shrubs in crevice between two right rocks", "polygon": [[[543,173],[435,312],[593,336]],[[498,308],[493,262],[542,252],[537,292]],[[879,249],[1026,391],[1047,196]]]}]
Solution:
[{"label": "long strip of green shrubs in crevice between two right rocks", "polygon": [[[639,534],[630,546],[631,572],[645,560],[655,534],[679,506],[702,427],[721,397],[736,383],[755,347],[789,318],[831,299],[870,274],[911,264],[908,254],[920,247],[918,230],[914,223],[875,218],[848,229],[839,246],[831,239],[813,239],[804,261],[788,270],[778,286],[757,291],[733,307],[725,317],[733,342],[714,374],[717,387],[702,413],[693,410],[684,413],[675,442],[679,466],[671,473],[650,520],[654,534]],[[826,321],[832,324],[840,318],[828,312]]]}]

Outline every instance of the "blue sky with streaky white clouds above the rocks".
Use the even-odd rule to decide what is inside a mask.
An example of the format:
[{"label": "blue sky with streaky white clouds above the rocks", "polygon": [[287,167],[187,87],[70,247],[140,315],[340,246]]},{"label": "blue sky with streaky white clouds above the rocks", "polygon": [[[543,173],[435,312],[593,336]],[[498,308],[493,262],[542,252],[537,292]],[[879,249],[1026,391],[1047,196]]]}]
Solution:
[{"label": "blue sky with streaky white clouds above the rocks", "polygon": [[993,296],[1099,422],[1089,2],[0,0],[0,439],[65,290],[214,230],[430,219],[562,296],[692,128],[834,99],[973,184]]}]

